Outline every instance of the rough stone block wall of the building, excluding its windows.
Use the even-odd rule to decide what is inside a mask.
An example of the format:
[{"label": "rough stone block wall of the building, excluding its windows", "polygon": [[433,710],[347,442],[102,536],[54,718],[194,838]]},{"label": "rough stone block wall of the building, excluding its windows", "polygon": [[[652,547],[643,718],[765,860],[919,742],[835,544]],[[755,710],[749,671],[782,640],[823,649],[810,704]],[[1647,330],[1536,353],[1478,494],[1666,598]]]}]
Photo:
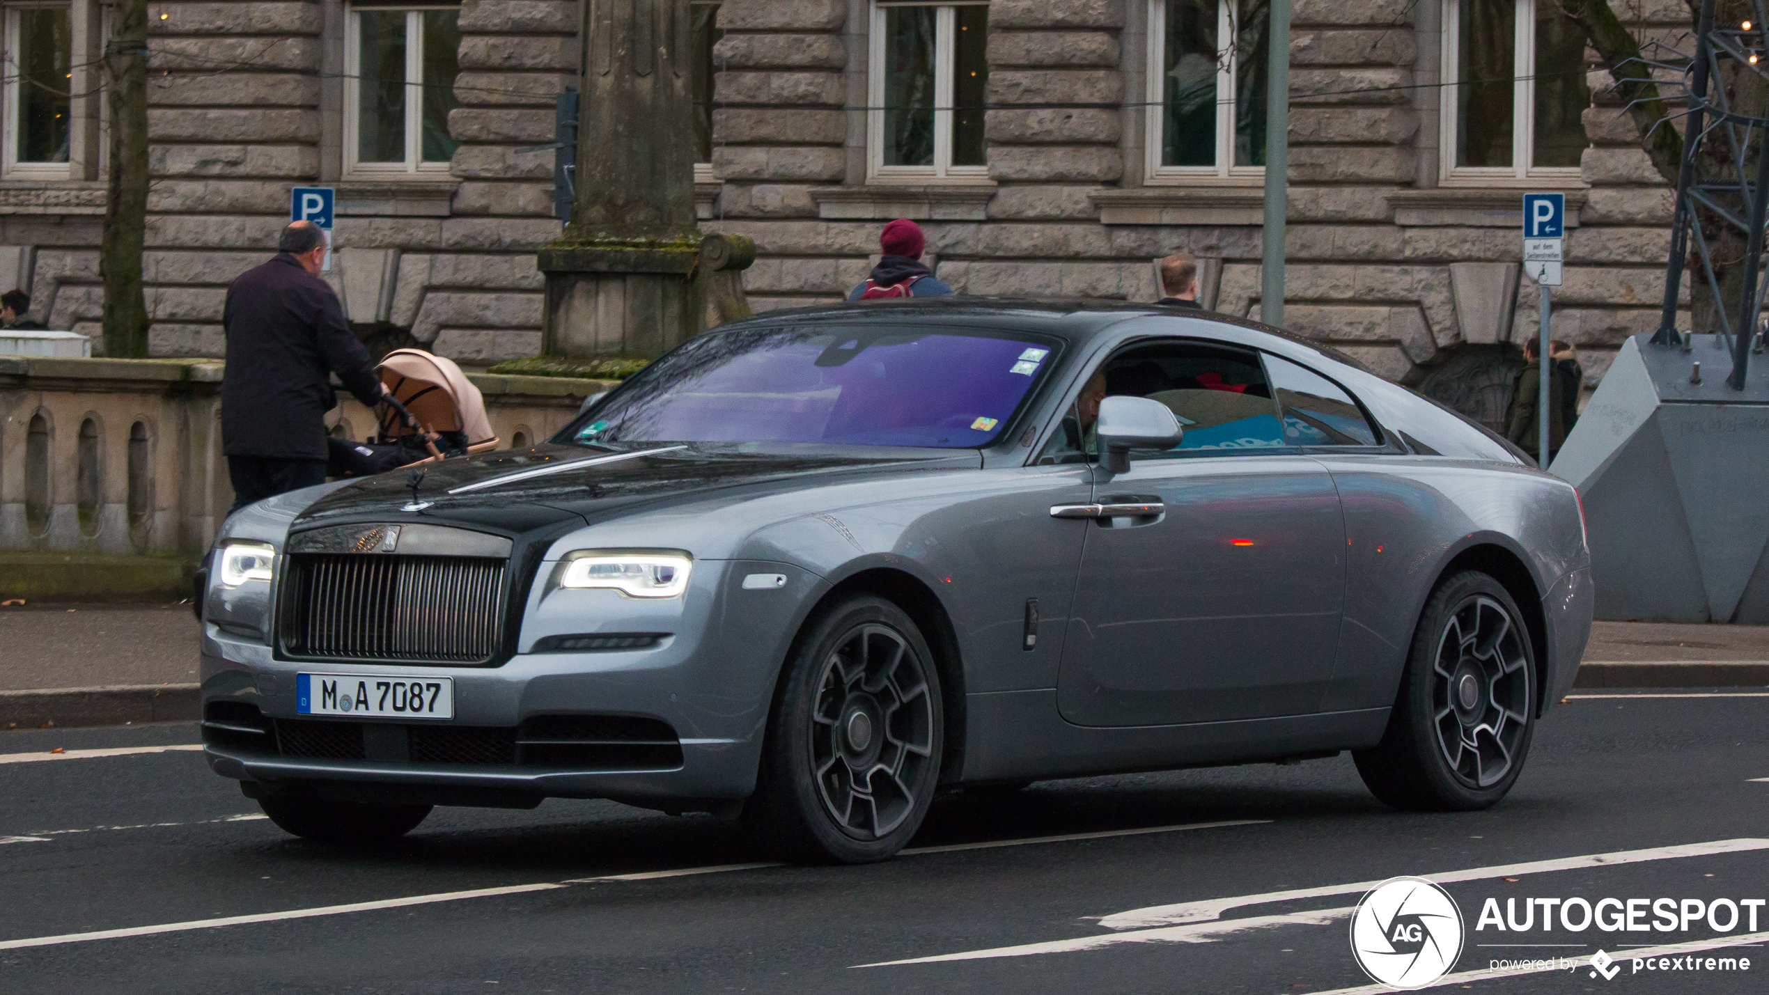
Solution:
[{"label": "rough stone block wall of the building, excluding its windows", "polygon": [[[1626,7],[1643,34],[1688,19],[1675,0]],[[154,353],[221,353],[228,279],[272,249],[288,187],[315,182],[340,191],[333,281],[364,334],[469,366],[538,352],[532,251],[559,223],[552,154],[520,148],[552,138],[578,11],[463,0],[449,171],[371,182],[341,173],[341,0],[156,4]],[[1491,406],[1465,394],[1509,392],[1509,345],[1535,325],[1518,205],[1541,184],[1440,182],[1440,11],[1295,2],[1286,316],[1385,376]],[[725,0],[718,23],[702,223],[755,239],[755,309],[842,297],[877,228],[915,217],[961,293],[1153,300],[1152,260],[1185,249],[1205,260],[1206,302],[1260,313],[1260,180],[1145,175],[1145,0],[991,2],[989,168],[968,182],[869,182],[867,0]],[[1656,325],[1672,196],[1620,108],[1599,99],[1585,127],[1581,175],[1560,184],[1576,217],[1553,330],[1601,375]],[[97,177],[0,180],[0,281],[19,260],[37,315],[83,332],[99,315]]]}]

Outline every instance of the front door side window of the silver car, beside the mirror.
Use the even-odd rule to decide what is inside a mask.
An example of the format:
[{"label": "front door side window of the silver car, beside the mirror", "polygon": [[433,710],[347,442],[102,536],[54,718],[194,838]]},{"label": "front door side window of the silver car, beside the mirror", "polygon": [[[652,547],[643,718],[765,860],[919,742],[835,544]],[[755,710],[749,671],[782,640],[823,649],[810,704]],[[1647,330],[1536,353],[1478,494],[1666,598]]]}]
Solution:
[{"label": "front door side window of the silver car, beside the mirror", "polygon": [[[1166,405],[1185,438],[1166,452],[1139,451],[1134,460],[1162,460],[1194,451],[1231,452],[1281,449],[1272,385],[1252,350],[1196,341],[1143,343],[1107,359],[1081,389],[1040,463],[1072,463],[1099,456],[1095,421],[1104,398],[1150,398]],[[1355,410],[1355,408],[1353,408]]]}]

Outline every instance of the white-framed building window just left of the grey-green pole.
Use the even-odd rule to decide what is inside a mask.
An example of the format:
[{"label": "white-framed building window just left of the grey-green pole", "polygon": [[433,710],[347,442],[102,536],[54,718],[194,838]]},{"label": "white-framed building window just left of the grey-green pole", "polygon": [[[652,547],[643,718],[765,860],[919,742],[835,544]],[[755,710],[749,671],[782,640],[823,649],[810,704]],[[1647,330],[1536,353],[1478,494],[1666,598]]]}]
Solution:
[{"label": "white-framed building window just left of the grey-green pole", "polygon": [[1152,0],[1148,177],[1265,175],[1268,0]]}]

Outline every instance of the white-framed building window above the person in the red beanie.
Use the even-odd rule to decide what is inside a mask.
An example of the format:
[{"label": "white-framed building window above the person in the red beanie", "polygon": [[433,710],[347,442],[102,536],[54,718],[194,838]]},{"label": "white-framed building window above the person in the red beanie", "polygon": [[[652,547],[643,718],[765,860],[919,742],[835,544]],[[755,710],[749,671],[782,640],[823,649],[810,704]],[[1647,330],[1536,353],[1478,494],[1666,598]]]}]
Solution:
[{"label": "white-framed building window above the person in the red beanie", "polygon": [[870,42],[870,173],[987,177],[989,5],[876,0]]}]

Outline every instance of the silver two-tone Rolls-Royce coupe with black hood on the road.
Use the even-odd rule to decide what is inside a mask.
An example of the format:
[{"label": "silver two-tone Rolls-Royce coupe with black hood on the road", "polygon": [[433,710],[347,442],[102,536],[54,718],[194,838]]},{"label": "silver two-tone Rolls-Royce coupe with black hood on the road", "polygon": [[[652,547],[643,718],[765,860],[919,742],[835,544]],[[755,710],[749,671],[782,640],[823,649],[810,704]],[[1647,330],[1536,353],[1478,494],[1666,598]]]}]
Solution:
[{"label": "silver two-tone Rolls-Royce coupe with black hood on the road", "polygon": [[943,790],[1329,756],[1491,806],[1578,495],[1275,329],[938,299],[690,339],[548,442],[234,514],[203,744],[283,829],[601,797],[872,861]]}]

